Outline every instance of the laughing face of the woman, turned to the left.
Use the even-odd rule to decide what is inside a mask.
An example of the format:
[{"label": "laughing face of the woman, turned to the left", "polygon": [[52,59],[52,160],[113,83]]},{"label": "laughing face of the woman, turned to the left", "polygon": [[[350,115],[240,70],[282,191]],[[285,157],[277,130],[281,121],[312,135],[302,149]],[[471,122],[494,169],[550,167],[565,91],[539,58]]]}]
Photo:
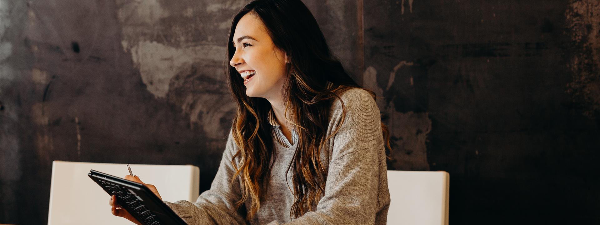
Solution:
[{"label": "laughing face of the woman, turned to the left", "polygon": [[[275,47],[259,17],[243,16],[233,33],[235,54],[229,62],[244,77],[244,71],[256,74],[244,77],[246,95],[274,99],[281,96],[286,77],[286,54]],[[240,79],[242,82],[242,79]]]}]

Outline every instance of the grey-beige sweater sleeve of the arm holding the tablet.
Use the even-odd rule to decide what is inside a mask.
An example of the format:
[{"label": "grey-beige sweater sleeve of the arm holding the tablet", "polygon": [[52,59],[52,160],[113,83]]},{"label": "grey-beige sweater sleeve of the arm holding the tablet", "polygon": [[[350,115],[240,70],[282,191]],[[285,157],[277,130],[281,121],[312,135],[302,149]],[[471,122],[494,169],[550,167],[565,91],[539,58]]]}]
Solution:
[{"label": "grey-beige sweater sleeve of the arm holding the tablet", "polygon": [[[231,182],[235,170],[231,158],[237,148],[231,132],[227,146],[221,158],[217,175],[211,189],[204,191],[196,202],[180,200],[174,203],[164,202],[173,209],[185,223],[195,224],[244,224],[244,218],[236,211],[235,203],[241,199],[239,179]],[[243,208],[243,206],[242,206]]]}]

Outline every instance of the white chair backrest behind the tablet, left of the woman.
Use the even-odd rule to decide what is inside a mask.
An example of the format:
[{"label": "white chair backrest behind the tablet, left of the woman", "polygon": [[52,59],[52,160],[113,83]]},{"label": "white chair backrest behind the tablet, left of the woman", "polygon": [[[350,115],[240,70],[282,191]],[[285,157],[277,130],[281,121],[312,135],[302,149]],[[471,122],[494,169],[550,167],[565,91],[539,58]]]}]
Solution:
[{"label": "white chair backrest behind the tablet, left of the woman", "polygon": [[[163,200],[195,202],[200,170],[196,166],[131,164],[133,175],[157,187]],[[113,176],[128,175],[127,164],[52,162],[48,224],[131,224],[110,212],[110,196],[92,179],[89,170]]]}]

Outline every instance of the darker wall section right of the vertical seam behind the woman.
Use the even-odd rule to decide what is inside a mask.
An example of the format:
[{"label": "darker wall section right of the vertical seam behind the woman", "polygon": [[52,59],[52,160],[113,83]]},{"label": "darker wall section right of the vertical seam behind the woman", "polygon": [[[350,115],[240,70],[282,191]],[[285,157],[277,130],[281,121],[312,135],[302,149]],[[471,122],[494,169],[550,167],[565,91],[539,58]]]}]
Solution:
[{"label": "darker wall section right of the vertical seam behind the woman", "polygon": [[599,13],[600,1],[365,2],[365,85],[404,134],[394,166],[448,171],[452,224],[600,223],[599,123],[584,116],[600,112]]}]

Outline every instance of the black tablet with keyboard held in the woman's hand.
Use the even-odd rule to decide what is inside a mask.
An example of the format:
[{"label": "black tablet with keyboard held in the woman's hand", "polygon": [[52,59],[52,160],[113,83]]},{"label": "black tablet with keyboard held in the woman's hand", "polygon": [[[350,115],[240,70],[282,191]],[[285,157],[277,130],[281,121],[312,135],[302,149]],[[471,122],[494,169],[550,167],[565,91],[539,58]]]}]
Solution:
[{"label": "black tablet with keyboard held in the woman's hand", "polygon": [[116,196],[116,202],[144,225],[186,224],[143,184],[96,170],[89,170],[88,176],[110,196]]}]

